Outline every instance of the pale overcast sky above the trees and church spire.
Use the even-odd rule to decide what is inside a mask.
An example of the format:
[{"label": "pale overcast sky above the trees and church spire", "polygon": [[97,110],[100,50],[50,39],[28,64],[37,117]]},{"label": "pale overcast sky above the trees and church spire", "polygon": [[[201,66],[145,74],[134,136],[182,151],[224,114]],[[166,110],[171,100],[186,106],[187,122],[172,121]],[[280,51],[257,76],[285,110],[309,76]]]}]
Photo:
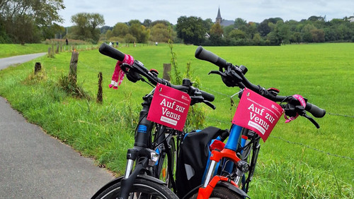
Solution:
[{"label": "pale overcast sky above the trees and church spire", "polygon": [[72,26],[76,13],[100,13],[105,25],[132,19],[168,20],[176,24],[180,16],[197,16],[215,21],[217,9],[223,19],[243,18],[261,23],[264,19],[302,20],[310,16],[326,16],[326,20],[354,16],[353,0],[64,0],[61,25]]}]

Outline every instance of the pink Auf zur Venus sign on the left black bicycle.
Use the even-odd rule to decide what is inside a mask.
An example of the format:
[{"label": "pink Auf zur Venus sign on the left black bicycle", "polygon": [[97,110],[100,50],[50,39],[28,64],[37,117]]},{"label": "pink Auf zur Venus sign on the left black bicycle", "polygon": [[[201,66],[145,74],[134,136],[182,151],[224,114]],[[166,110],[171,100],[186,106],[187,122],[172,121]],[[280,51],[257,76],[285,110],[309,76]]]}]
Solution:
[{"label": "pink Auf zur Venus sign on the left black bicycle", "polygon": [[183,131],[189,105],[190,97],[187,93],[158,84],[147,119]]}]

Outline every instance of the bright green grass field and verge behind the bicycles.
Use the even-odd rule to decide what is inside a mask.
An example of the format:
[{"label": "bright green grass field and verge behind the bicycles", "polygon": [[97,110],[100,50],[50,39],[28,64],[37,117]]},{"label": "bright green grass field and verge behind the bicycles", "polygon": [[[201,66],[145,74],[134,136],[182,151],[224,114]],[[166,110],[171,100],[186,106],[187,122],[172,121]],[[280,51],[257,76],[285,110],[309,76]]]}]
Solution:
[{"label": "bright green grass field and verge behind the bicycles", "polygon": [[[215,95],[216,110],[202,105],[207,114],[205,126],[229,128],[235,111],[229,96],[239,89],[227,88],[219,76],[208,76],[217,67],[195,59],[196,48],[173,46],[178,67],[183,71],[191,61],[202,90]],[[246,66],[246,77],[252,83],[278,88],[280,95],[303,95],[327,111],[324,118],[316,119],[319,129],[304,118],[286,124],[280,119],[267,142],[261,143],[251,198],[354,198],[354,44],[205,48],[233,64]],[[120,50],[159,71],[171,59],[164,44]],[[93,50],[80,52],[78,81],[94,99],[101,71],[103,104],[68,97],[57,82],[67,75],[70,57],[69,52],[63,52],[54,59],[42,57],[0,71],[0,95],[28,121],[120,174],[125,168],[125,152],[132,147],[139,104],[151,88],[125,79],[118,90],[110,90],[116,61]],[[45,72],[34,77],[38,61]],[[233,100],[239,101],[237,97]]]}]

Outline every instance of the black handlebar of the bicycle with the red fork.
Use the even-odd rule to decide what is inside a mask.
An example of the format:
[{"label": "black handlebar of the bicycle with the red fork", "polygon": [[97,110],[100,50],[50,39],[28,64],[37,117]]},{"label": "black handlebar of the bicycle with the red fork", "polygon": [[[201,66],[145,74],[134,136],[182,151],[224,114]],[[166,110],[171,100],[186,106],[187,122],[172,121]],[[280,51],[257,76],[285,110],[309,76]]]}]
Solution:
[{"label": "black handlebar of the bicycle with the red fork", "polygon": [[[195,58],[209,61],[210,63],[219,66],[220,69],[222,69],[222,68],[224,68],[225,70],[230,69],[230,71],[227,71],[225,73],[227,73],[227,75],[229,75],[229,76],[233,76],[234,79],[235,79],[235,74],[232,73],[232,71],[236,72],[236,75],[237,75],[236,80],[238,80],[237,83],[239,83],[239,84],[236,83],[235,85],[239,86],[240,88],[245,88],[245,87],[249,88],[249,89],[253,90],[254,92],[257,92],[258,94],[262,95],[263,97],[266,97],[269,100],[272,100],[274,102],[285,102],[287,99],[290,100],[289,96],[274,95],[272,92],[268,92],[268,90],[265,90],[265,88],[262,88],[260,85],[252,84],[249,80],[247,80],[247,78],[244,76],[244,72],[238,66],[234,66],[233,64],[227,63],[227,61],[225,61],[221,57],[217,56],[216,54],[214,54],[210,51],[207,51],[206,49],[203,49],[203,47],[201,47],[201,46],[199,46],[196,49]],[[221,73],[219,71],[216,71],[215,73],[218,73],[220,76],[223,75],[223,73]],[[224,78],[225,77],[226,76],[224,76]],[[235,86],[235,85],[232,85],[232,86]],[[311,104],[309,102],[307,102],[305,110],[309,111],[313,116],[315,116],[317,118],[321,118],[326,114],[326,110],[321,109],[321,108],[317,107],[316,105]]]}]

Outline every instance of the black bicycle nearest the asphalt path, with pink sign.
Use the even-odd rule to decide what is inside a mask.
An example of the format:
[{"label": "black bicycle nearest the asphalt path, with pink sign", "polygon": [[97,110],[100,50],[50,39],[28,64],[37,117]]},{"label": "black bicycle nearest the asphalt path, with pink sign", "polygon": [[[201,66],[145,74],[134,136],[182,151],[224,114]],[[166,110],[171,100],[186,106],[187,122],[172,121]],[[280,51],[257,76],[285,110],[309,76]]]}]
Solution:
[{"label": "black bicycle nearest the asphalt path, with pink sign", "polygon": [[[186,116],[186,107],[200,102],[215,109],[210,103],[214,100],[214,96],[194,88],[188,79],[184,79],[182,85],[172,85],[167,80],[158,78],[156,70],[149,71],[140,61],[134,60],[132,56],[123,54],[108,44],[102,44],[99,52],[118,59],[118,65],[127,75],[128,80],[133,83],[141,80],[154,89],[143,97],[144,102],[135,131],[134,147],[127,150],[125,175],[107,183],[92,198],[178,198],[169,188],[176,189],[173,181],[173,159],[176,156],[174,137],[183,137],[184,123],[183,116],[177,115],[171,109],[174,108],[175,102],[181,105],[183,100],[187,101],[184,102],[185,107],[181,105],[176,107],[176,110],[179,111],[178,113],[183,112],[184,116]],[[181,92],[178,96],[183,102],[176,99],[172,100],[173,102],[166,100],[171,96],[164,96],[168,95],[165,91]],[[163,92],[164,95],[162,95]],[[156,101],[161,96],[165,97],[164,100]],[[156,102],[164,106],[162,107],[164,115],[159,118],[161,119],[159,123],[155,121],[156,114],[153,113],[157,109],[154,107]]]}]

